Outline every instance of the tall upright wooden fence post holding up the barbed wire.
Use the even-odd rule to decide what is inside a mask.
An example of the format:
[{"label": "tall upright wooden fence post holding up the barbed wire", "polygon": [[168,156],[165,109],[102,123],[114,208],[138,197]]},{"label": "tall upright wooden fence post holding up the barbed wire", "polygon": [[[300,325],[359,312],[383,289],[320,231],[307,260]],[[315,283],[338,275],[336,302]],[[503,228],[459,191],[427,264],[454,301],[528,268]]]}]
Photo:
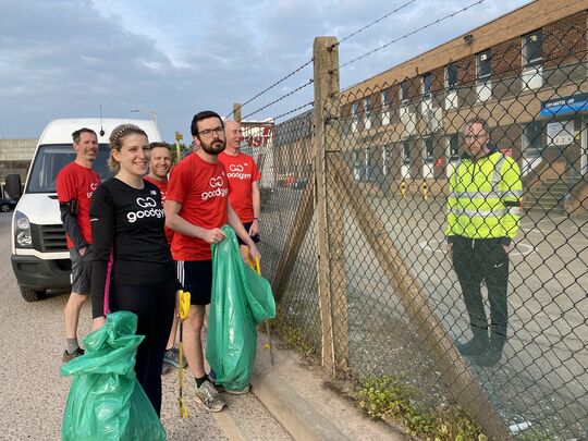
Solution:
[{"label": "tall upright wooden fence post holding up the barbed wire", "polygon": [[[339,156],[339,46],[334,37],[317,37],[315,63],[315,177],[319,296],[322,323],[322,364],[331,372],[346,372],[348,319],[345,286],[343,208],[336,197],[336,171],[332,156]],[[335,121],[335,124],[332,122]]]}]

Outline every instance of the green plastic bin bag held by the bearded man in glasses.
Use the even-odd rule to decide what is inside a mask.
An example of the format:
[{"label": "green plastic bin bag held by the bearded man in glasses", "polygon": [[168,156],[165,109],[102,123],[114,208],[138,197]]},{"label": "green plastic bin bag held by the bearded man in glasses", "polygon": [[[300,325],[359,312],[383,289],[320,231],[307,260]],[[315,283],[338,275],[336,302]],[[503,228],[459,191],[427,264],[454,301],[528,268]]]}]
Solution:
[{"label": "green plastic bin bag held by the bearded man in glasses", "polygon": [[212,293],[206,358],[216,381],[229,390],[249,384],[257,324],[275,317],[269,282],[241,257],[235,232],[224,225],[226,237],[212,248]]}]

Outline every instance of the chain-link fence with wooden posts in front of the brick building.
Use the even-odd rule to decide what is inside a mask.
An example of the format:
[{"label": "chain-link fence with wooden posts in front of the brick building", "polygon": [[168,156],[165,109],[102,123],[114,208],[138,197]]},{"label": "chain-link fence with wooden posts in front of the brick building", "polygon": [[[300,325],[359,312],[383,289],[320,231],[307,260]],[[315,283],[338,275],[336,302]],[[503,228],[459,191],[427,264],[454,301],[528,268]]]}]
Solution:
[{"label": "chain-link fence with wooden posts in front of the brick building", "polygon": [[342,93],[336,45],[315,52],[327,93],[315,76],[315,110],[256,155],[264,272],[332,372],[402,375],[494,434],[588,438],[586,51],[584,11]]}]

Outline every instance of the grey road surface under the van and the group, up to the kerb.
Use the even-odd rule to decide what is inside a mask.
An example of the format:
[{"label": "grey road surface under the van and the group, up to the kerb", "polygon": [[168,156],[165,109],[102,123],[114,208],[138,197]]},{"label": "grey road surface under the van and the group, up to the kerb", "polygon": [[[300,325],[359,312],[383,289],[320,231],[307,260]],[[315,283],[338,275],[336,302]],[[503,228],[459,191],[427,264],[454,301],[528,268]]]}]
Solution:
[{"label": "grey road surface under the van and the group, up to the kerb", "polygon": [[[62,311],[66,296],[52,294],[25,303],[10,266],[10,221],[0,213],[0,440],[58,440],[70,379],[59,377],[63,351]],[[89,332],[90,310],[82,313],[82,334]],[[164,376],[162,421],[169,440],[290,440],[253,394],[226,396],[229,409],[209,414],[186,400],[189,418],[176,407],[176,376]],[[188,383],[186,395],[192,396]],[[186,396],[184,395],[184,396]]]}]

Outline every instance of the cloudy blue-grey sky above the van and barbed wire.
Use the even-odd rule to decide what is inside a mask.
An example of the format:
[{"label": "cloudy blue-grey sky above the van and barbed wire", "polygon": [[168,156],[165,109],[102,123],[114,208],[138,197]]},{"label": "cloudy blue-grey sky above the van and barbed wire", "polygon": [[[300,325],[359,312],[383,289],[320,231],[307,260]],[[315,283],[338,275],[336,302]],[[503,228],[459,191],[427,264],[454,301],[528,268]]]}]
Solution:
[{"label": "cloudy blue-grey sky above the van and barbed wire", "polygon": [[[199,110],[221,114],[311,58],[316,36],[355,32],[409,0],[0,0],[0,137],[38,137],[56,118],[145,118],[166,140]],[[416,0],[340,47],[341,64],[475,0]],[[357,83],[526,0],[486,0],[341,71]],[[243,108],[247,115],[308,82],[313,65]],[[306,87],[250,119],[311,100]]]}]

